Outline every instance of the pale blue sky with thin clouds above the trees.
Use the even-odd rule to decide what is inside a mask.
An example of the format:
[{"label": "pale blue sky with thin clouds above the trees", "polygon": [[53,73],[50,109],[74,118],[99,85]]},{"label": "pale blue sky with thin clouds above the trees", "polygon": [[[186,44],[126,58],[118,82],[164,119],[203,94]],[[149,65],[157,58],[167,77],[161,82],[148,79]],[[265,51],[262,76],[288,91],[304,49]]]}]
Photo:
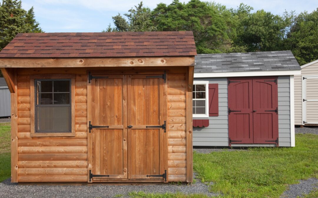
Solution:
[{"label": "pale blue sky with thin clouds above the trees", "polygon": [[[188,2],[182,1],[181,2]],[[45,32],[100,32],[112,22],[112,16],[124,14],[140,0],[22,0],[25,10],[34,7],[36,20]],[[145,0],[144,5],[153,9],[158,3],[169,4],[172,0]],[[317,0],[216,0],[228,8],[237,8],[245,3],[254,10],[264,9],[273,14],[285,10],[312,12],[318,7]]]}]

